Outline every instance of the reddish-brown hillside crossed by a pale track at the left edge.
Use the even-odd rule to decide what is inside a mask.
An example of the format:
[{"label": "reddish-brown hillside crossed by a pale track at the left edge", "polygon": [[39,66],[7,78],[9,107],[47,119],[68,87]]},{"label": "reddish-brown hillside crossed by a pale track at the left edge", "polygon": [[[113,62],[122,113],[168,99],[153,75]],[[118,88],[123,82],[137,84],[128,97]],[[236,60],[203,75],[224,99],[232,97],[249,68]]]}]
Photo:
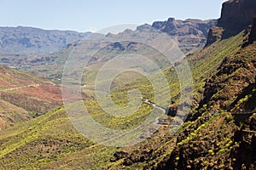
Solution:
[{"label": "reddish-brown hillside crossed by a pale track at the left edge", "polygon": [[61,105],[61,89],[42,77],[0,66],[0,127],[13,126]]}]

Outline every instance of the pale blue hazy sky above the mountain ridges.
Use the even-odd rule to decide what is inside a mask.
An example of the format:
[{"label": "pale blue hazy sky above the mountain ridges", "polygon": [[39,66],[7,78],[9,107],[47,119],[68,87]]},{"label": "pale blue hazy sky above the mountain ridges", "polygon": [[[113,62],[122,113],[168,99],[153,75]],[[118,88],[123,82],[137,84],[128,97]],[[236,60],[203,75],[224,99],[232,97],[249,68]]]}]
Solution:
[{"label": "pale blue hazy sky above the mountain ridges", "polygon": [[0,0],[0,26],[97,31],[154,20],[218,19],[225,0]]}]

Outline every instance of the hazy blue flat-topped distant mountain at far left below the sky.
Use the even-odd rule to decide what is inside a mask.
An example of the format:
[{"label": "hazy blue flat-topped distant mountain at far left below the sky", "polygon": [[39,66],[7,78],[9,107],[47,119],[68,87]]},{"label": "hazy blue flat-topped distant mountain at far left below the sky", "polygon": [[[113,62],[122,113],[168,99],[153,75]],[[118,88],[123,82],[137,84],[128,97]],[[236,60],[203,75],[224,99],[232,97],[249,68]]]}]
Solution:
[{"label": "hazy blue flat-topped distant mountain at far left below the sky", "polygon": [[90,35],[90,32],[43,30],[33,27],[0,27],[0,53],[52,54]]}]

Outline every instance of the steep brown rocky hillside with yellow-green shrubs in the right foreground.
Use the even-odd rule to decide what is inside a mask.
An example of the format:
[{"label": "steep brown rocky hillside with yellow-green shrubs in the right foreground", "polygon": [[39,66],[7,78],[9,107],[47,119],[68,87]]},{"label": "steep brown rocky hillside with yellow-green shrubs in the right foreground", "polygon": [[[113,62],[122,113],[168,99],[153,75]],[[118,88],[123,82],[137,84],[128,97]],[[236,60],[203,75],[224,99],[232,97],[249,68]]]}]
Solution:
[{"label": "steep brown rocky hillside with yellow-green shrubs in the right foreground", "polygon": [[255,48],[254,42],[224,59],[162,168],[255,168]]}]

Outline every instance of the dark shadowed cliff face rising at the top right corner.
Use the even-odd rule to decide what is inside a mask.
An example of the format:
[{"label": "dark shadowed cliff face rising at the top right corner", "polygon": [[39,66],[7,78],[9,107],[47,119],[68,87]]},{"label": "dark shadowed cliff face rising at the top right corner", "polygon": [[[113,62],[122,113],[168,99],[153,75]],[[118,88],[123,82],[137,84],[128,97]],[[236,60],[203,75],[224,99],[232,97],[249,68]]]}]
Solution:
[{"label": "dark shadowed cliff face rising at the top right corner", "polygon": [[255,15],[255,0],[230,0],[223,3],[221,17],[217,25],[223,31],[218,31],[218,38],[216,38],[214,34],[212,35],[214,30],[211,29],[208,34],[206,46],[209,46],[219,38],[225,39],[247,29],[247,26],[253,23],[253,16]]}]

